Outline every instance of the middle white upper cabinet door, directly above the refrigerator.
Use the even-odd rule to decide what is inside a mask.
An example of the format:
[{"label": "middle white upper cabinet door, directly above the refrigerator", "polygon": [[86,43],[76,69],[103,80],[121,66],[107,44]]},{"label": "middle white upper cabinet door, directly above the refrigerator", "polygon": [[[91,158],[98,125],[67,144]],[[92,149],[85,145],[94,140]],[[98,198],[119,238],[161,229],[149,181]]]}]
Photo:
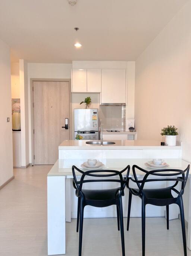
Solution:
[{"label": "middle white upper cabinet door, directly above the refrigerator", "polygon": [[87,91],[101,92],[101,69],[87,69]]}]

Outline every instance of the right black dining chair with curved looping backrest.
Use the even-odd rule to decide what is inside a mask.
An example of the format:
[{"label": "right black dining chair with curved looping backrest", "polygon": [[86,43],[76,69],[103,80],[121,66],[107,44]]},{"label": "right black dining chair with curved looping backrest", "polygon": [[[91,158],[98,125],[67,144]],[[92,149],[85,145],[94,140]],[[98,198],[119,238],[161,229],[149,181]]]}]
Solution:
[{"label": "right black dining chair with curved looping backrest", "polygon": [[[145,173],[143,180],[138,180],[135,169]],[[133,178],[129,178],[127,181],[127,187],[129,189],[129,204],[128,204],[128,218],[127,218],[127,231],[129,230],[129,219],[131,212],[131,199],[132,195],[139,196],[142,200],[142,256],[145,256],[145,205],[157,205],[166,206],[166,219],[167,219],[167,229],[169,229],[169,205],[177,204],[180,208],[181,214],[181,225],[182,225],[182,238],[184,246],[184,256],[187,256],[187,246],[186,246],[186,234],[185,234],[185,220],[184,220],[184,206],[182,195],[184,193],[184,188],[187,183],[190,165],[182,171],[178,169],[160,169],[146,171],[137,165],[133,165],[132,171],[134,175]],[[153,176],[148,179],[149,175],[160,176],[162,178],[154,178]],[[136,189],[129,187],[129,180],[137,184]],[[175,184],[170,187],[160,188],[160,189],[144,189],[144,185],[147,182],[153,181],[175,181]],[[181,184],[181,190],[178,191],[175,187]],[[172,191],[176,192],[177,197],[173,197]]]}]

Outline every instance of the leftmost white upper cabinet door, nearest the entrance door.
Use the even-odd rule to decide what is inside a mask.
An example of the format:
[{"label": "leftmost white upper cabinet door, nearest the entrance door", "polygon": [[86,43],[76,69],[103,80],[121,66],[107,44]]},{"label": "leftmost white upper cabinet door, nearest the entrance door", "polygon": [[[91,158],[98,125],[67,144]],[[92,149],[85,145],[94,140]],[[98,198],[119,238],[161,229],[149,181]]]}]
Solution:
[{"label": "leftmost white upper cabinet door, nearest the entrance door", "polygon": [[87,92],[87,69],[72,69],[72,92]]}]

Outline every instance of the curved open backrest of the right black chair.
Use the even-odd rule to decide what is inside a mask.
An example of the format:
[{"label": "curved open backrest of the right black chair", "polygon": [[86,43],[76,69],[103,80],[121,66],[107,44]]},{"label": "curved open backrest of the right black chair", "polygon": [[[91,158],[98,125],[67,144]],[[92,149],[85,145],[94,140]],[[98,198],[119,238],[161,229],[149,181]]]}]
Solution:
[{"label": "curved open backrest of the right black chair", "polygon": [[[138,180],[137,174],[136,174],[136,169],[145,173],[143,180]],[[190,165],[188,165],[184,171],[179,170],[179,169],[157,169],[157,170],[152,170],[152,171],[146,171],[137,165],[133,165],[132,171],[133,171],[135,180],[132,180],[131,178],[130,179],[132,181],[134,181],[135,183],[137,183],[137,186],[139,188],[139,192],[136,195],[140,195],[141,193],[143,194],[143,188],[144,188],[145,183],[147,183],[147,182],[175,181],[175,184],[170,186],[170,188],[173,191],[175,191],[178,194],[178,196],[181,196],[184,193],[184,188],[187,183],[189,170],[190,170]],[[149,175],[160,176],[160,177],[164,177],[164,178],[148,178]],[[175,189],[175,187],[178,185],[179,182],[182,183],[180,191]]]}]

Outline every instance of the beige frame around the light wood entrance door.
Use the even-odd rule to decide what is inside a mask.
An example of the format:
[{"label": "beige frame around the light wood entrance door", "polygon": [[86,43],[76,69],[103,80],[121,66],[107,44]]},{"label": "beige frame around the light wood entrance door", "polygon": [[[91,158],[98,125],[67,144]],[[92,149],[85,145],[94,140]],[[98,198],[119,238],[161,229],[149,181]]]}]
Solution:
[{"label": "beige frame around the light wood entrance door", "polygon": [[[30,79],[30,94],[31,94],[31,164],[34,165],[34,108],[33,108],[33,82],[38,82],[38,81],[45,81],[45,82],[69,82],[69,139],[72,138],[72,90],[71,90],[71,79],[66,78],[66,79],[51,79],[51,78],[31,78]],[[63,125],[65,123],[63,122]]]}]

